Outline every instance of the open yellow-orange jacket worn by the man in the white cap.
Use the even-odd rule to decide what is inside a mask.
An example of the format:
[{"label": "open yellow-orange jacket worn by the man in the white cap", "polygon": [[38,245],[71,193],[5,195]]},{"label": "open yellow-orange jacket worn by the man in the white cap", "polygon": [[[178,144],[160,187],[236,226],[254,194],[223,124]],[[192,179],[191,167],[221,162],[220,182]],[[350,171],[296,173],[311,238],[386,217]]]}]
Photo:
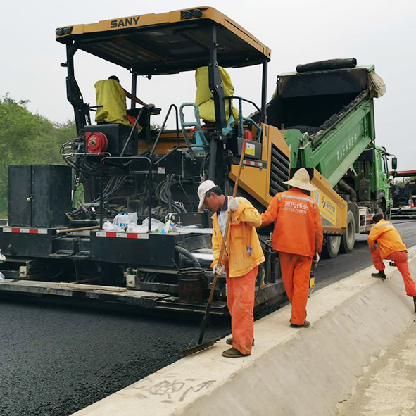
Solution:
[{"label": "open yellow-orange jacket worn by the man in the white cap", "polygon": [[[228,277],[244,276],[265,261],[256,227],[260,227],[261,216],[246,198],[238,197],[239,208],[231,212],[231,224],[227,236],[227,250],[222,264],[228,265]],[[229,215],[229,208],[227,209]],[[222,246],[222,232],[215,213],[213,219],[213,256],[211,267],[218,263]],[[251,254],[247,248],[251,247]]]}]

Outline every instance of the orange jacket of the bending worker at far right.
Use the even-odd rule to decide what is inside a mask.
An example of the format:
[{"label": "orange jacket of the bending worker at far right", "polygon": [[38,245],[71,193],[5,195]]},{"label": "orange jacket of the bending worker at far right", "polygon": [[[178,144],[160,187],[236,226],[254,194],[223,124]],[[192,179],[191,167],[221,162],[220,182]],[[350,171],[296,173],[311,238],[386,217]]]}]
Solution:
[{"label": "orange jacket of the bending worker at far right", "polygon": [[371,251],[377,248],[376,241],[379,244],[382,258],[386,258],[391,253],[396,253],[396,251],[405,251],[406,249],[405,244],[401,241],[400,234],[390,221],[381,220],[374,224],[367,238]]}]

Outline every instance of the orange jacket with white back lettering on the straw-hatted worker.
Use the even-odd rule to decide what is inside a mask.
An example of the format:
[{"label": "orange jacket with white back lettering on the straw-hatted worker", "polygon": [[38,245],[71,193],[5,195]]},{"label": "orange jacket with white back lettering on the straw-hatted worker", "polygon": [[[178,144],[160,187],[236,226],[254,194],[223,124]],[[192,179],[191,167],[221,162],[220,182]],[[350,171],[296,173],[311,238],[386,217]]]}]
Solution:
[{"label": "orange jacket with white back lettering on the straw-hatted worker", "polygon": [[320,210],[301,189],[291,188],[276,194],[261,218],[262,226],[275,222],[274,250],[307,257],[322,251],[324,235]]}]

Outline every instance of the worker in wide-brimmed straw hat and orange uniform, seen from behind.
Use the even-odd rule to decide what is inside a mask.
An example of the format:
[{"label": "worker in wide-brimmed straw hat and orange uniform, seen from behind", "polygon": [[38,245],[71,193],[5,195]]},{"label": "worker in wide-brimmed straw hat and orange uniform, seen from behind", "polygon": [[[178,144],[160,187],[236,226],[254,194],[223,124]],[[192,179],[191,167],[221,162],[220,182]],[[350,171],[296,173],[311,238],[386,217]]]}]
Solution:
[{"label": "worker in wide-brimmed straw hat and orange uniform, seen from behind", "polygon": [[276,194],[262,217],[262,227],[275,222],[273,249],[279,251],[284,288],[292,305],[292,328],[309,327],[306,320],[312,262],[322,251],[322,220],[315,201],[305,191],[315,191],[308,171],[301,168],[283,182],[289,191]]}]

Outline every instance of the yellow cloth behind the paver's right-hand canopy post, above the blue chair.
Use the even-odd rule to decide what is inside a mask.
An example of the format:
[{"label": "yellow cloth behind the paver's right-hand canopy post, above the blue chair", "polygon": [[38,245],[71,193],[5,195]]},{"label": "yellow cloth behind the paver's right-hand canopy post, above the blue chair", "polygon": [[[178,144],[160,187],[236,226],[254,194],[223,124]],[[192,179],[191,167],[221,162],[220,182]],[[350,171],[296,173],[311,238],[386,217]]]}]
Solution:
[{"label": "yellow cloth behind the paver's right-hand canopy post, above the blue chair", "polygon": [[[224,96],[233,96],[234,95],[234,85],[231,82],[231,77],[229,73],[222,68],[220,68],[220,75],[222,80],[222,85],[224,87]],[[203,120],[209,122],[215,122],[215,106],[213,100],[213,93],[210,91],[209,86],[209,77],[208,77],[208,66],[201,66],[198,68],[195,73],[195,82],[196,82],[196,99],[195,103],[199,108],[199,115]],[[237,121],[239,119],[239,111],[237,108],[232,106],[232,115]],[[229,119],[229,101],[225,100],[225,118]]]}]

